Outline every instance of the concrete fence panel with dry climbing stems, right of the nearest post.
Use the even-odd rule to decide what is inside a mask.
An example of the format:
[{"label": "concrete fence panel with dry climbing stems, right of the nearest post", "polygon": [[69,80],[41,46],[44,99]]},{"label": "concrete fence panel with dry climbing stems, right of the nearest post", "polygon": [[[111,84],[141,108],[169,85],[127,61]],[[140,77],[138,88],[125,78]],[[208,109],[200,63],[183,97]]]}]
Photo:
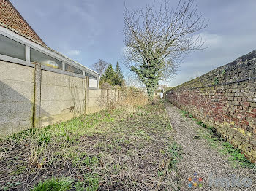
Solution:
[{"label": "concrete fence panel with dry climbing stems, right of the nearest post", "polygon": [[42,71],[41,125],[51,125],[84,114],[85,91],[85,79]]}]

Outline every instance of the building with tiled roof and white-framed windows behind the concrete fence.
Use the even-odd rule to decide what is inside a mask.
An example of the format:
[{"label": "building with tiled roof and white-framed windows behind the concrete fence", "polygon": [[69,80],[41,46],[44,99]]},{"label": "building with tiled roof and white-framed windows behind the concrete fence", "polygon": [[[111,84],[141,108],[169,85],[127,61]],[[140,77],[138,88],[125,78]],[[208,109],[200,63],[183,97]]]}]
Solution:
[{"label": "building with tiled roof and white-framed windows behind the concrete fence", "polygon": [[0,0],[0,61],[25,66],[41,63],[43,70],[89,77],[89,86],[99,87],[96,71],[48,47],[9,0]]}]

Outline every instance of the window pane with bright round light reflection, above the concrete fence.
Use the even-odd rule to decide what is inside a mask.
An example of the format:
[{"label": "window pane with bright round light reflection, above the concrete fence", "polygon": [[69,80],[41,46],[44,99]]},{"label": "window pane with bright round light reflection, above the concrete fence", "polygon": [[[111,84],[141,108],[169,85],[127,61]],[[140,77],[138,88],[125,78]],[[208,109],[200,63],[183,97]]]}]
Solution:
[{"label": "window pane with bright round light reflection, above the concrete fence", "polygon": [[50,57],[49,55],[45,55],[42,52],[34,50],[33,48],[30,49],[30,61],[31,62],[39,62],[42,65],[50,66],[55,69],[62,69],[62,62]]}]

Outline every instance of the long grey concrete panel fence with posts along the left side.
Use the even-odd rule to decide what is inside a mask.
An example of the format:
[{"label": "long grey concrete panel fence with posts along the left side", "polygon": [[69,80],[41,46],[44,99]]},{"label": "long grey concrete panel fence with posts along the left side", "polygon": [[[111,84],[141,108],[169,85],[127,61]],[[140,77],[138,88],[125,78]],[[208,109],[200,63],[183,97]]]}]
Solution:
[{"label": "long grey concrete panel fence with posts along the left side", "polygon": [[0,136],[99,112],[119,94],[89,87],[88,77],[42,70],[39,63],[0,61]]}]

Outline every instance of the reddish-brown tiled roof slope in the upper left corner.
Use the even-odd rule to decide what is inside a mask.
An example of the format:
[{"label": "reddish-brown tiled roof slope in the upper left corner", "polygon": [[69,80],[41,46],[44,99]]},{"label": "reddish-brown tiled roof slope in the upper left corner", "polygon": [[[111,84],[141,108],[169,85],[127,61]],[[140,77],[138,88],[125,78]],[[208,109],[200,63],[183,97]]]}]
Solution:
[{"label": "reddish-brown tiled roof slope in the upper left corner", "polygon": [[19,12],[12,6],[10,1],[0,0],[0,25],[5,26],[16,31],[29,39],[45,45],[42,39],[33,31],[33,29],[26,23],[26,20],[19,14]]}]

